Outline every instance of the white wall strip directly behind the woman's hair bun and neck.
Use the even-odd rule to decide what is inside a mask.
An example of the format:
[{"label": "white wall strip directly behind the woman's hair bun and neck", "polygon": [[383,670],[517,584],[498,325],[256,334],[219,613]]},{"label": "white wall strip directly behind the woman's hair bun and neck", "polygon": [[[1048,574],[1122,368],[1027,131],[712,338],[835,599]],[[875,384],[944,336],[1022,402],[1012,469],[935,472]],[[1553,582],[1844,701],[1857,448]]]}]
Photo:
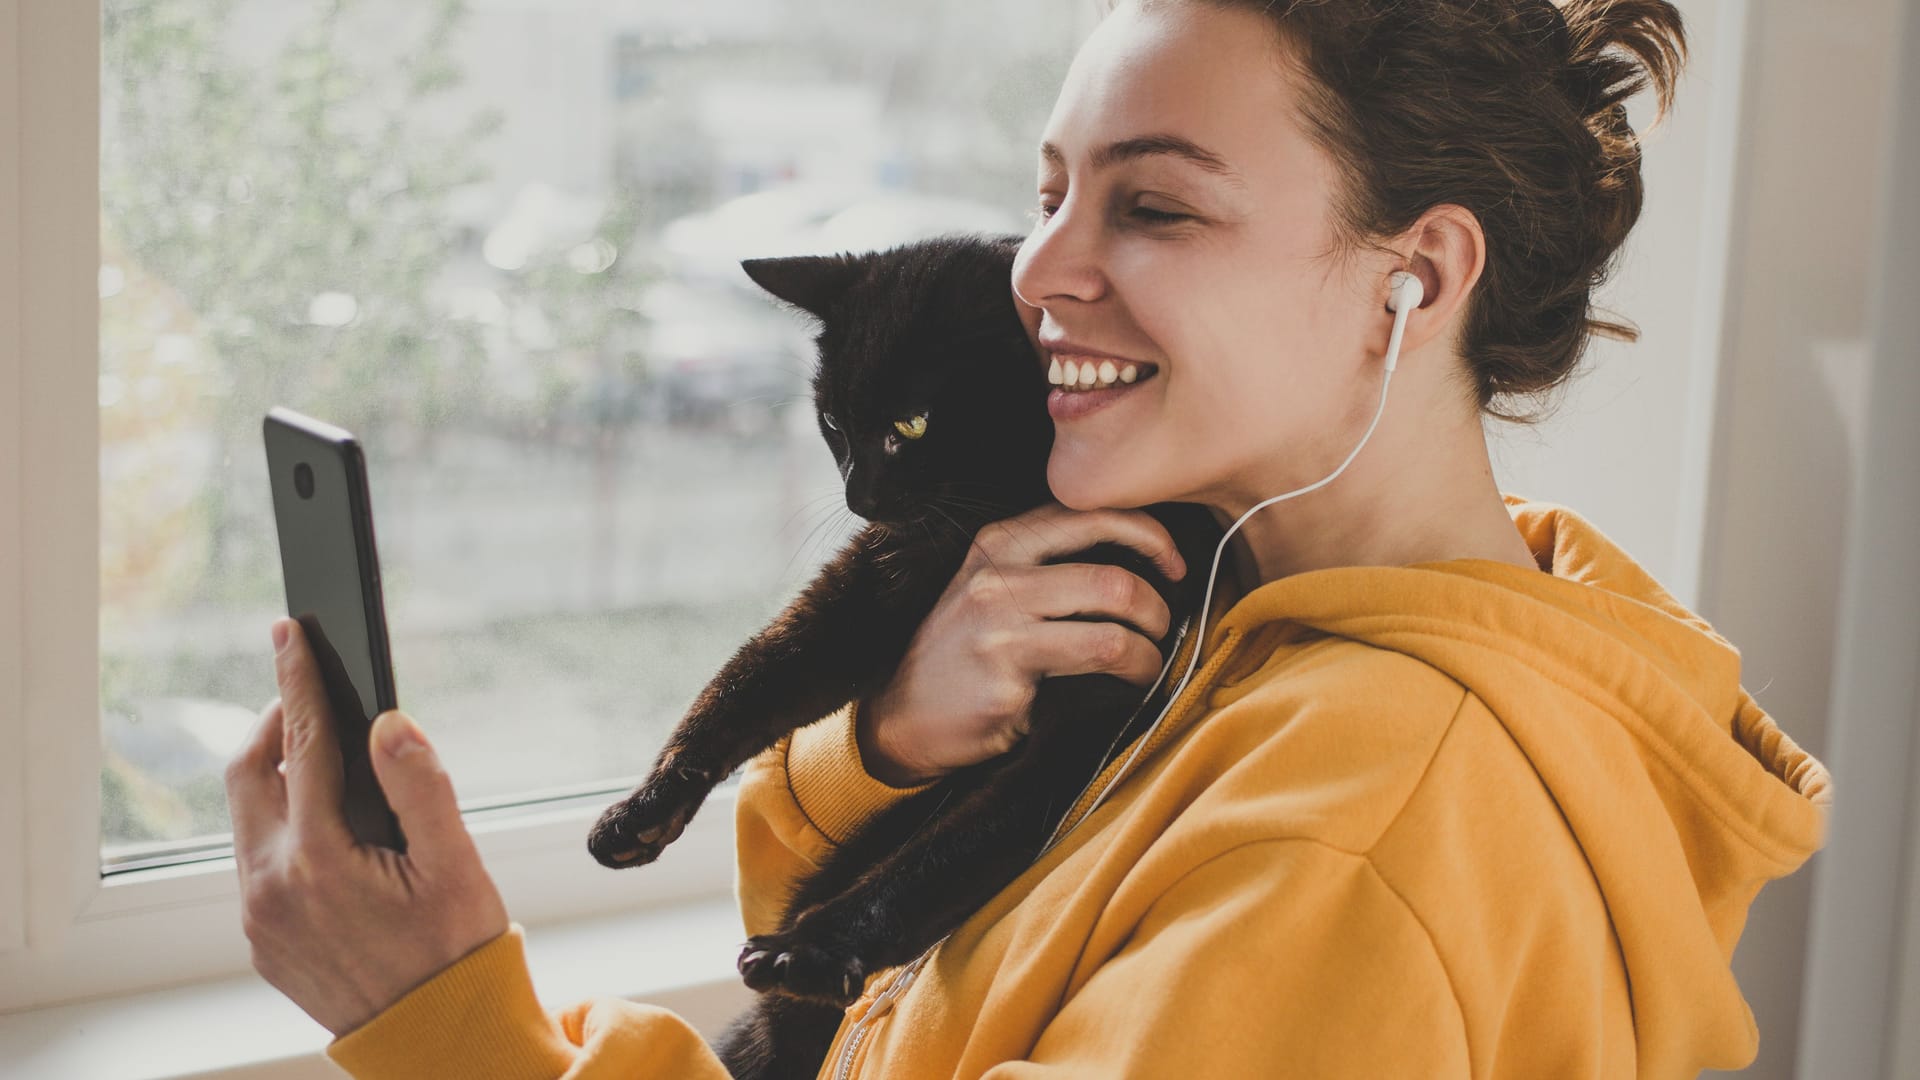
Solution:
[{"label": "white wall strip directly behind the woman's hair bun and neck", "polygon": [[1628,102],[1645,200],[1596,304],[1640,327],[1596,336],[1546,423],[1488,423],[1501,490],[1561,502],[1626,548],[1682,603],[1699,600],[1709,450],[1722,365],[1728,192],[1738,183],[1743,0],[1678,0],[1692,56],[1659,129]]}]

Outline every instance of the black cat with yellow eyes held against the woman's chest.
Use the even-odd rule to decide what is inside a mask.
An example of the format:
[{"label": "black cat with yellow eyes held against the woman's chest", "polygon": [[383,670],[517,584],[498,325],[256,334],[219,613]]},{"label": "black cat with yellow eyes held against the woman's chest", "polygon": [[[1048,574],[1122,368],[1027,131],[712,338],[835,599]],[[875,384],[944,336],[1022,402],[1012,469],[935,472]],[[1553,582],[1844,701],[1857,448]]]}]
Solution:
[{"label": "black cat with yellow eyes held against the woman's chest", "polygon": [[[820,432],[847,505],[870,525],[707,684],[647,782],[593,824],[595,859],[651,863],[735,767],[877,694],[979,527],[1050,502],[1046,365],[1010,294],[1020,242],[945,236],[743,263],[822,325]],[[1119,565],[1150,582],[1173,611],[1156,642],[1165,657],[1200,605],[1206,575],[1192,567],[1212,565],[1221,527],[1198,505],[1148,511],[1173,534],[1183,580],[1119,544],[1054,561]],[[799,882],[780,930],[741,951],[741,974],[764,994],[716,1047],[733,1076],[814,1076],[866,976],[912,961],[1012,882],[1121,736],[1158,717],[1165,692],[1142,707],[1144,690],[1114,675],[1046,678],[1016,749],[941,778],[837,847]]]}]

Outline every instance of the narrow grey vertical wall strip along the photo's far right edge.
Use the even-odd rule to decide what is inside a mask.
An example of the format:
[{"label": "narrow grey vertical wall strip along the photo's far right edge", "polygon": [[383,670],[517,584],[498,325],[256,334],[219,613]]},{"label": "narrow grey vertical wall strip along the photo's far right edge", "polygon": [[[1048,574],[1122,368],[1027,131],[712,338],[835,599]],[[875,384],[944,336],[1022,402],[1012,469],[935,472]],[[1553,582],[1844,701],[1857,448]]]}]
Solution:
[{"label": "narrow grey vertical wall strip along the photo's far right edge", "polygon": [[[1828,765],[1836,813],[1812,880],[1803,1076],[1920,1076],[1920,13],[1908,6],[1885,161],[1870,346],[1847,413],[1853,473],[1834,650]],[[1903,894],[1905,892],[1905,899]]]}]

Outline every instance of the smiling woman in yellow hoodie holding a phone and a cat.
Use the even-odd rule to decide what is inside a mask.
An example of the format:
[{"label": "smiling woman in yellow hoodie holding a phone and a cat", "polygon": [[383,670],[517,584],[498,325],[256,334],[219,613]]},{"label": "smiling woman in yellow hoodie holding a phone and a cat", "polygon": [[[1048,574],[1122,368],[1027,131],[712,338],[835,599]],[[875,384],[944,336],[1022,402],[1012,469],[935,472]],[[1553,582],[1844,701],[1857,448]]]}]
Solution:
[{"label": "smiling woman in yellow hoodie holding a phone and a cat", "polygon": [[[1144,582],[1043,565],[1119,540],[1181,569],[1146,515],[1096,507],[1196,502],[1244,527],[1175,657],[1192,678],[1110,767],[1119,782],[925,963],[872,976],[828,1076],[1597,1078],[1753,1059],[1728,963],[1755,892],[1820,846],[1826,771],[1620,548],[1498,492],[1480,427],[1619,331],[1588,300],[1640,209],[1620,102],[1651,83],[1665,106],[1682,54],[1661,0],[1110,13],[1043,136],[1012,286],[1039,363],[1154,375],[1096,409],[1056,402],[1062,505],[985,528],[893,684],[749,767],[747,930],[866,815],[1018,740],[1039,678],[1154,680],[1144,636],[1060,621],[1167,626]],[[1419,281],[1402,311],[1398,273]],[[724,1076],[660,1009],[541,1009],[422,740],[374,755],[413,851],[351,844],[286,630],[282,700],[228,792],[255,967],[340,1036],[332,1059],[355,1076]],[[374,738],[407,734],[392,713]]]}]

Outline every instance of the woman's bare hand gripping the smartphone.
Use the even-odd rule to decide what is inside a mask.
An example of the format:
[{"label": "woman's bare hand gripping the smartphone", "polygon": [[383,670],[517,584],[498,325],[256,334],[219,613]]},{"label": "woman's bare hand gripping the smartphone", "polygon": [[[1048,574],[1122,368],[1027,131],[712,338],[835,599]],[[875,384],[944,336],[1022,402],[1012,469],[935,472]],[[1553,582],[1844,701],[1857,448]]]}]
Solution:
[{"label": "woman's bare hand gripping the smartphone", "polygon": [[511,922],[453,782],[407,713],[382,715],[372,763],[407,824],[409,849],[351,836],[340,753],[323,730],[332,703],[313,642],[298,621],[276,619],[273,648],[280,698],[227,765],[240,928],[253,945],[253,970],[346,1036]]}]

